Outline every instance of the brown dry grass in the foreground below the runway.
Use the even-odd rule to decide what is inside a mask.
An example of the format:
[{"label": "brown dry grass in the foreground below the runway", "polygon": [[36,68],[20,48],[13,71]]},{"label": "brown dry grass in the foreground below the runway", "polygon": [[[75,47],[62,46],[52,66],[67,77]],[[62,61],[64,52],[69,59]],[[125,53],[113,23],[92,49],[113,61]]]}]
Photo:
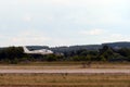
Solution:
[{"label": "brown dry grass in the foreground below the runway", "polygon": [[0,87],[130,87],[130,75],[0,74]]}]

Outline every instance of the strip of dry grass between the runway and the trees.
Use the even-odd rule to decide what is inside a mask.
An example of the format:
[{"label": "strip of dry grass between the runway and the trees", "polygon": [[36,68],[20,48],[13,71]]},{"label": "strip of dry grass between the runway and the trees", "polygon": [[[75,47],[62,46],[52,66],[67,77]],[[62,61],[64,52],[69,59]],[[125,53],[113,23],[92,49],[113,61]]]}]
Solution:
[{"label": "strip of dry grass between the runway and the trees", "polygon": [[[0,70],[52,70],[52,69],[81,69],[81,62],[31,62],[21,64],[0,64]],[[130,70],[130,63],[108,63],[108,62],[92,62],[87,69],[128,69]]]}]

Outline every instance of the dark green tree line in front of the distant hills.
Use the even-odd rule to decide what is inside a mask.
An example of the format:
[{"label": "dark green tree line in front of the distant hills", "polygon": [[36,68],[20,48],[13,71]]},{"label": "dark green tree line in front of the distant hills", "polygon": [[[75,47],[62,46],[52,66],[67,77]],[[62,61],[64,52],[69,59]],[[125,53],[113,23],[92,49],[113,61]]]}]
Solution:
[{"label": "dark green tree line in front of the distant hills", "polygon": [[1,63],[20,63],[20,62],[36,62],[36,61],[128,61],[130,62],[130,49],[113,49],[108,46],[103,46],[99,50],[72,50],[65,51],[63,54],[26,54],[22,47],[8,47],[0,49]]}]

